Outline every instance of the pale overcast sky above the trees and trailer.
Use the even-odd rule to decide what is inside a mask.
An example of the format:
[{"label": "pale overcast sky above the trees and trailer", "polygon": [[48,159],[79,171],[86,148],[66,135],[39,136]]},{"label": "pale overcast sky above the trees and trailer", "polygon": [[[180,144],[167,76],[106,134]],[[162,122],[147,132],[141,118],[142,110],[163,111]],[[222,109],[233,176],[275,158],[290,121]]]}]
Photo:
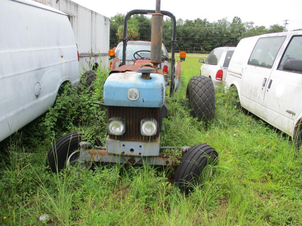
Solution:
[{"label": "pale overcast sky above the trees and trailer", "polygon": [[[117,13],[126,14],[133,9],[155,10],[155,0],[72,0],[106,17]],[[243,22],[253,21],[255,25],[269,27],[272,24],[284,26],[288,19],[287,29],[302,28],[302,0],[161,0],[161,9],[170,11],[176,17],[194,20],[207,19],[210,22],[228,17],[231,22],[234,16],[240,17]]]}]

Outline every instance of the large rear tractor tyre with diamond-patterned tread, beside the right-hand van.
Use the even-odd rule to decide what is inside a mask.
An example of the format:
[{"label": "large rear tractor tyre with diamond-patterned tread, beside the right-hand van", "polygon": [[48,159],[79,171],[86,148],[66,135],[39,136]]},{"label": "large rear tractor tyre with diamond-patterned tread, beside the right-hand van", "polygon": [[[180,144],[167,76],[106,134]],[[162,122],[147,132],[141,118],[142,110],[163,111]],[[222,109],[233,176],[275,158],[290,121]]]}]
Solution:
[{"label": "large rear tractor tyre with diamond-patterned tread, beside the right-hand van", "polygon": [[215,88],[204,76],[192,77],[187,86],[191,115],[199,120],[212,120],[215,115]]}]

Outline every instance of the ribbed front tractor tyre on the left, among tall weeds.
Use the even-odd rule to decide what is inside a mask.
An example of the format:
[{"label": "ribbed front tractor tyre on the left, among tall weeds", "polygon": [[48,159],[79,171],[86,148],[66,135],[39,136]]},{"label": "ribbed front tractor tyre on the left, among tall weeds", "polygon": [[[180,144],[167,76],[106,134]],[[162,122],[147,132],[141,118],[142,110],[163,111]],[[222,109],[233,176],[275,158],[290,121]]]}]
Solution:
[{"label": "ribbed front tractor tyre on the left, among tall weeds", "polygon": [[[68,133],[56,140],[47,155],[46,164],[49,165],[50,171],[57,173],[68,165],[66,163],[69,165],[78,163],[81,141],[82,134],[77,132]],[[96,138],[95,145],[102,146],[102,143]],[[92,162],[81,162],[80,165],[89,169]]]}]

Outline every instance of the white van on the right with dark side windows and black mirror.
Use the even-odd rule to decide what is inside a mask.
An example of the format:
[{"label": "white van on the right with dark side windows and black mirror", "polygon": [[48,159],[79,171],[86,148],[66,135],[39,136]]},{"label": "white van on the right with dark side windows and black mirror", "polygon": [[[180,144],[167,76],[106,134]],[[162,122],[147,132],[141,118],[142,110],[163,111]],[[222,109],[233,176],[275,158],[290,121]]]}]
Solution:
[{"label": "white van on the right with dark side windows and black mirror", "polygon": [[226,73],[243,108],[290,135],[302,137],[302,31],[242,39]]}]

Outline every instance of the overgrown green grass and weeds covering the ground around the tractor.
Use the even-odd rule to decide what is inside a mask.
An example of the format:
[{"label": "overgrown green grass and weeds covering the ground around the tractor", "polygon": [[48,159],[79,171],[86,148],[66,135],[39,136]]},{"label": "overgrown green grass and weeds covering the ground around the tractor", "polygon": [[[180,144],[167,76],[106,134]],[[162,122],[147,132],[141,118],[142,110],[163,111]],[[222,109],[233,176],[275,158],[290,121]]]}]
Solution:
[{"label": "overgrown green grass and weeds covering the ground around the tractor", "polygon": [[[223,86],[213,121],[190,116],[183,99],[199,58],[182,62],[180,90],[166,98],[161,145],[213,146],[212,177],[184,196],[171,184],[173,168],[102,164],[48,173],[47,152],[63,132],[106,137],[105,111],[91,104],[102,101],[106,73],[98,72],[92,97],[66,88],[55,108],[0,143],[0,225],[302,225],[302,157],[288,136],[243,113]],[[38,221],[45,213],[49,221]]]}]

